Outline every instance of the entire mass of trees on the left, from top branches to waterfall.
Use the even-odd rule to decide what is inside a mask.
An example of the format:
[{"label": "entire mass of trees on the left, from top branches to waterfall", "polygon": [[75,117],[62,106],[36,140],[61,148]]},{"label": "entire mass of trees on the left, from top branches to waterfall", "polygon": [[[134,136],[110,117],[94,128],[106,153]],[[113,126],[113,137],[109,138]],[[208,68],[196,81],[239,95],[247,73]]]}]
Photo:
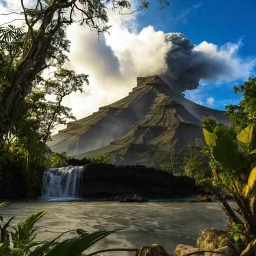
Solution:
[{"label": "entire mass of trees on the left, from top branches to waterfall", "polygon": [[[170,4],[157,2],[162,11]],[[87,75],[64,67],[70,51],[66,28],[76,23],[80,29],[95,30],[99,37],[108,33],[111,24],[106,3],[100,0],[37,0],[32,8],[23,0],[19,4],[24,25],[8,22],[0,27],[0,183],[19,176],[25,194],[35,196],[51,154],[46,142],[52,129],[75,120],[71,109],[62,105],[63,98],[83,92],[89,84]],[[120,15],[149,5],[142,0],[131,11],[129,1],[112,0],[112,10]],[[48,100],[49,95],[54,99]]]}]

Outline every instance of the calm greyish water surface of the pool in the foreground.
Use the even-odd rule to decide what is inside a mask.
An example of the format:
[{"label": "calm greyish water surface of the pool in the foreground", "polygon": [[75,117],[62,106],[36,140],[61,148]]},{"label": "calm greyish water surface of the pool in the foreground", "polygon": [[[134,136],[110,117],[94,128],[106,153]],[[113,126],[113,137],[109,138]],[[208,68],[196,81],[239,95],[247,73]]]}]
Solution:
[{"label": "calm greyish water surface of the pool in the foreground", "polygon": [[[16,215],[12,224],[32,213],[51,209],[35,227],[38,239],[44,240],[64,231],[83,228],[89,232],[117,230],[86,252],[103,248],[137,248],[143,245],[163,245],[170,255],[178,244],[196,245],[207,227],[226,229],[227,217],[214,203],[179,203],[187,199],[151,200],[150,203],[116,203],[85,200],[22,200],[1,207],[4,219]],[[0,201],[2,203],[2,201]],[[231,203],[234,207],[234,203]],[[74,235],[68,234],[65,238]],[[116,252],[113,254],[125,253]],[[106,255],[106,254],[104,254]],[[135,255],[134,253],[126,255]]]}]

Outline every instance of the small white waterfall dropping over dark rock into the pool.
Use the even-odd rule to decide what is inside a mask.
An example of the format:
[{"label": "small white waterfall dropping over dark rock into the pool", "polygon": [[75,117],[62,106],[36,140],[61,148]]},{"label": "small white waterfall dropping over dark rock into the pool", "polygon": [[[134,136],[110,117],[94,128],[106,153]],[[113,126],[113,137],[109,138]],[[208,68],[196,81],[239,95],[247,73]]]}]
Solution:
[{"label": "small white waterfall dropping over dark rock into the pool", "polygon": [[43,176],[42,198],[77,198],[83,166],[48,169]]}]

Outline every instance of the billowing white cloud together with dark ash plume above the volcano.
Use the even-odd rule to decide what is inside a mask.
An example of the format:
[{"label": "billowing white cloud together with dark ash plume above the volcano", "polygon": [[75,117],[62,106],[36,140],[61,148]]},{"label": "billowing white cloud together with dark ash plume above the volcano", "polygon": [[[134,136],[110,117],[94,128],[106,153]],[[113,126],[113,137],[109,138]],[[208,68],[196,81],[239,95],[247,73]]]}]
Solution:
[{"label": "billowing white cloud together with dark ash plume above the volcano", "polygon": [[[0,3],[0,13],[21,11],[16,2]],[[33,6],[36,1],[24,3]],[[151,25],[138,30],[140,12],[119,15],[118,11],[112,11],[111,4],[108,7],[109,25],[113,26],[110,36],[100,36],[100,42],[95,31],[89,28],[72,24],[67,29],[71,49],[66,68],[88,74],[90,82],[84,87],[84,93],[73,93],[63,102],[78,119],[127,96],[136,86],[138,76],[168,73],[172,87],[183,92],[196,89],[200,79],[225,82],[248,79],[253,74],[255,59],[244,60],[238,56],[240,41],[221,47],[207,42],[193,45],[181,33],[164,34]],[[0,16],[1,24],[13,18],[22,16]]]}]

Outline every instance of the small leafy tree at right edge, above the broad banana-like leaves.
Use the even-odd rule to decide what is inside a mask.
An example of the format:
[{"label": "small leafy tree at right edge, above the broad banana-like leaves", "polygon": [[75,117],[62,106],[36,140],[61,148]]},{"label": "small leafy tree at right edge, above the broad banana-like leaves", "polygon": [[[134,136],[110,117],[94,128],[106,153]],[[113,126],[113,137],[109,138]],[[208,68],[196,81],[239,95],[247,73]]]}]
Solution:
[{"label": "small leafy tree at right edge, above the broad banana-like leaves", "polygon": [[243,96],[239,105],[226,106],[235,131],[240,132],[250,124],[256,127],[256,77],[249,77],[243,85],[234,86],[233,89],[235,95],[240,93]]}]

